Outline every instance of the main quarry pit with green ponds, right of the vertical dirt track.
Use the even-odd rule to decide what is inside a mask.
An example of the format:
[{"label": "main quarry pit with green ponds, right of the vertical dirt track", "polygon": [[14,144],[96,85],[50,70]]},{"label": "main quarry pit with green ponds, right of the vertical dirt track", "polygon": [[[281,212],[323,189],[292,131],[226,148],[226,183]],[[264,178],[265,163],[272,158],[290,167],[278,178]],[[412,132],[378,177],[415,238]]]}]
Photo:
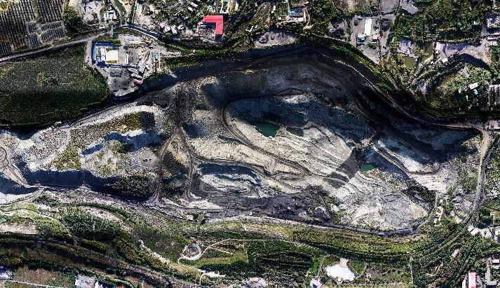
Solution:
[{"label": "main quarry pit with green ponds, right of the vertical dirt track", "polygon": [[324,57],[288,55],[198,78],[176,97],[189,102],[180,125],[192,165],[184,204],[224,211],[212,217],[231,210],[408,230],[478,159],[477,132],[399,115],[356,71]]}]

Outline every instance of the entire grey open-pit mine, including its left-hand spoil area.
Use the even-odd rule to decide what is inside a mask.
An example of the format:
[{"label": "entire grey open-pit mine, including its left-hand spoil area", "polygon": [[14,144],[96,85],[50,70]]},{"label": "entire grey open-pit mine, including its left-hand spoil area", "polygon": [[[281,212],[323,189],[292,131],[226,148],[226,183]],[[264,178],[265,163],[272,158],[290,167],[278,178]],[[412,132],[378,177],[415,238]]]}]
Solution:
[{"label": "entire grey open-pit mine, including its left-hand spoil area", "polygon": [[149,205],[208,221],[406,233],[433,217],[436,195],[459,199],[461,214],[471,207],[459,174],[478,165],[475,130],[398,114],[370,76],[318,53],[238,65],[67,125],[0,132],[0,188],[13,187],[0,192],[98,190],[143,174]]}]

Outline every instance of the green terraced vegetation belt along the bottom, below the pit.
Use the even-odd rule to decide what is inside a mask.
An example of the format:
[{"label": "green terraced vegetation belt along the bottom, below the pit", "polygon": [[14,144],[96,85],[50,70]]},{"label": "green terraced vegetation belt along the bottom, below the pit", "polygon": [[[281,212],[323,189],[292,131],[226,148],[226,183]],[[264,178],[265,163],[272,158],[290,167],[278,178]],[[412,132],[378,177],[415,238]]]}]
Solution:
[{"label": "green terraced vegetation belt along the bottom, below the pit", "polygon": [[[61,209],[64,204],[55,205]],[[381,285],[388,282],[410,283],[410,263],[416,287],[425,287],[432,282],[439,283],[439,287],[454,287],[466,270],[477,265],[476,259],[500,251],[499,245],[471,236],[464,226],[454,223],[450,217],[443,217],[439,226],[424,227],[417,235],[387,238],[334,228],[325,230],[242,222],[201,225],[165,219],[155,212],[145,212],[148,215],[146,220],[140,216],[144,215],[142,212],[130,214],[107,205],[89,204],[90,207],[116,214],[123,225],[130,228],[130,231],[125,231],[115,221],[84,212],[83,206],[81,210],[69,208],[61,217],[72,235],[79,238],[77,244],[67,245],[64,243],[68,240],[57,238],[44,242],[43,247],[50,249],[49,254],[43,250],[34,252],[31,248],[36,247],[29,244],[35,243],[31,239],[39,239],[38,235],[15,235],[15,239],[9,240],[12,235],[0,234],[0,252],[13,265],[20,265],[29,259],[34,267],[54,267],[54,263],[72,267],[78,266],[78,261],[84,261],[86,264],[83,267],[93,263],[95,267],[106,266],[107,273],[121,273],[114,270],[116,264],[104,260],[107,258],[96,258],[89,253],[93,251],[109,259],[124,259],[127,263],[189,281],[199,277],[199,274],[196,277],[195,268],[227,275],[217,279],[203,278],[202,282],[207,286],[256,276],[281,283],[284,287],[293,283],[308,284],[311,275],[317,273],[323,282],[328,280],[324,267],[337,263],[342,256],[349,259],[349,268],[360,276],[355,284],[366,281]],[[142,249],[139,240],[153,252],[170,259],[170,264],[159,261]],[[9,243],[13,242],[24,248],[12,250]],[[184,246],[193,242],[200,244],[202,251],[208,245],[218,244],[212,245],[200,259],[181,260],[183,266],[177,265],[175,260]],[[452,256],[457,247],[459,252]],[[24,256],[16,256],[19,254]],[[65,257],[58,256],[60,254]],[[187,266],[193,268],[190,270]],[[60,269],[60,266],[56,267]],[[440,268],[436,270],[436,267]],[[372,275],[370,280],[366,280],[365,273]]]}]

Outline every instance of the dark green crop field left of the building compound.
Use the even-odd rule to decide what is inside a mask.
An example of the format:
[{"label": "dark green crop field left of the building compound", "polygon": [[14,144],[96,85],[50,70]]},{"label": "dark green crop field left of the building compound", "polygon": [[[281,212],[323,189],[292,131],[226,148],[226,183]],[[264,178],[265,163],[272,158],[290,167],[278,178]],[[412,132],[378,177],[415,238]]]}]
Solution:
[{"label": "dark green crop field left of the building compound", "polygon": [[0,125],[50,125],[105,102],[107,86],[83,56],[83,46],[77,46],[1,65]]}]

